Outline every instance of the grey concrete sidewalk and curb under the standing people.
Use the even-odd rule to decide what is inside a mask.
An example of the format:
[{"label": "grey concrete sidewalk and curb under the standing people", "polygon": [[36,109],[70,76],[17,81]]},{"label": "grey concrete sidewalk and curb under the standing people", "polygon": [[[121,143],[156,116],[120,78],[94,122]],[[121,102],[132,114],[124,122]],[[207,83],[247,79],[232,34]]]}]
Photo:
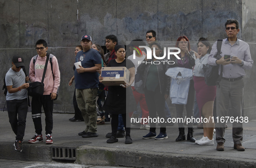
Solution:
[{"label": "grey concrete sidewalk and curb under the standing people", "polygon": [[[138,127],[131,128],[133,144],[125,144],[125,138],[119,138],[117,143],[106,143],[105,135],[111,132],[110,122],[97,127],[99,136],[94,138],[82,138],[79,132],[85,129],[84,122],[70,122],[69,118],[74,114],[53,114],[53,144],[45,144],[45,121],[42,114],[43,135],[42,143],[29,144],[28,140],[35,134],[31,113],[27,115],[26,131],[23,143],[23,152],[16,152],[13,143],[13,133],[7,111],[0,112],[0,159],[52,162],[52,157],[62,157],[65,151],[76,150],[72,154],[75,163],[86,165],[104,166],[129,166],[143,168],[162,167],[209,167],[209,168],[251,168],[256,167],[256,121],[244,123],[243,146],[244,152],[233,149],[232,124],[225,133],[226,143],[223,152],[216,151],[217,143],[214,146],[200,146],[188,141],[175,142],[178,136],[177,124],[174,127],[167,127],[168,139],[142,139],[149,130],[140,130]],[[157,128],[159,133],[159,128]],[[185,126],[185,132],[187,127]],[[200,139],[203,136],[203,129],[195,126],[194,137]],[[214,136],[215,139],[215,136]],[[53,148],[53,149],[52,149]],[[57,152],[58,150],[58,152]],[[63,150],[63,151],[62,151]],[[55,155],[53,155],[55,151]],[[60,153],[59,153],[60,152]],[[73,157],[74,156],[74,157]]]}]

